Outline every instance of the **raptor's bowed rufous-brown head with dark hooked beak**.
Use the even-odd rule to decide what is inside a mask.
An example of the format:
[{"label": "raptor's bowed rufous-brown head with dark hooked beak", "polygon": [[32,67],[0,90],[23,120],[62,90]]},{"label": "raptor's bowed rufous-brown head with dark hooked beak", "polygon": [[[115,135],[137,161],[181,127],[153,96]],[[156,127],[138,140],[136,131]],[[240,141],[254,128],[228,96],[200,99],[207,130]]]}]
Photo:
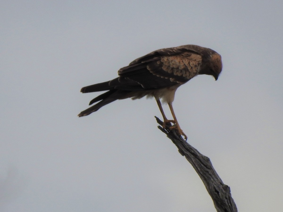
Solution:
[{"label": "raptor's bowed rufous-brown head with dark hooked beak", "polygon": [[220,72],[222,71],[221,55],[217,52],[213,52],[210,58],[204,64],[204,67],[200,70],[199,74],[212,75],[215,80],[218,79]]}]

